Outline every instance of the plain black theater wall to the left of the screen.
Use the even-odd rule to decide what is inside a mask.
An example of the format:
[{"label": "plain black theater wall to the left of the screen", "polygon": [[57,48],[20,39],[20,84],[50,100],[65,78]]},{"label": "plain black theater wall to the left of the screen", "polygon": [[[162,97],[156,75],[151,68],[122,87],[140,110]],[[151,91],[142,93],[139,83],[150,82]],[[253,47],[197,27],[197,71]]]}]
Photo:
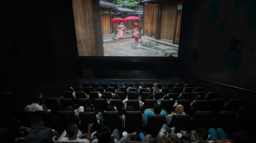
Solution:
[{"label": "plain black theater wall to the left of the screen", "polygon": [[3,0],[0,19],[0,91],[78,77],[72,0]]}]

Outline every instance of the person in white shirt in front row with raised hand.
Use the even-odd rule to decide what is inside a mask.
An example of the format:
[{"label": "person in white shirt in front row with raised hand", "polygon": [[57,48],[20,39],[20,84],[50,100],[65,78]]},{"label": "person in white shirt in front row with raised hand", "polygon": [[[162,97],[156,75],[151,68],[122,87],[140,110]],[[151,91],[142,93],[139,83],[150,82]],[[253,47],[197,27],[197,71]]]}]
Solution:
[{"label": "person in white shirt in front row with raised hand", "polygon": [[[71,124],[69,124],[66,127],[66,130],[61,134],[61,136],[59,137],[58,141],[59,142],[83,142],[83,143],[90,143],[92,141],[91,128],[92,128],[93,124],[94,123],[90,123],[88,125],[87,133],[81,134],[81,131],[79,132],[77,125],[75,123],[71,123]],[[66,134],[68,135],[68,137],[64,137]]]}]

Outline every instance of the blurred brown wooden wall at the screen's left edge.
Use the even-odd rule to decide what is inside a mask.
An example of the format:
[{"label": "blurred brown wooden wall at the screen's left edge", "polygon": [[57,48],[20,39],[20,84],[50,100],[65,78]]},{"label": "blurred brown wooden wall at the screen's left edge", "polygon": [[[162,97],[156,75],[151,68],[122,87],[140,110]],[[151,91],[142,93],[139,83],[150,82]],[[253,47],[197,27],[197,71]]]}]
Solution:
[{"label": "blurred brown wooden wall at the screen's left edge", "polygon": [[72,2],[78,56],[103,56],[99,1]]}]

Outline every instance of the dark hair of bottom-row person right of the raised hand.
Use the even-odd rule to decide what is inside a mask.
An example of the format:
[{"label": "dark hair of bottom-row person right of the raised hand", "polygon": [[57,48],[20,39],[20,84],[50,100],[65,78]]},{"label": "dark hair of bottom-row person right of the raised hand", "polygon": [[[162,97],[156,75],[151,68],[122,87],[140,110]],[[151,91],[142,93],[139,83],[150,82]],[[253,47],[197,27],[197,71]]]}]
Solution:
[{"label": "dark hair of bottom-row person right of the raised hand", "polygon": [[96,132],[96,136],[98,139],[98,143],[115,142],[114,139],[111,137],[111,132],[108,127],[99,128]]}]

